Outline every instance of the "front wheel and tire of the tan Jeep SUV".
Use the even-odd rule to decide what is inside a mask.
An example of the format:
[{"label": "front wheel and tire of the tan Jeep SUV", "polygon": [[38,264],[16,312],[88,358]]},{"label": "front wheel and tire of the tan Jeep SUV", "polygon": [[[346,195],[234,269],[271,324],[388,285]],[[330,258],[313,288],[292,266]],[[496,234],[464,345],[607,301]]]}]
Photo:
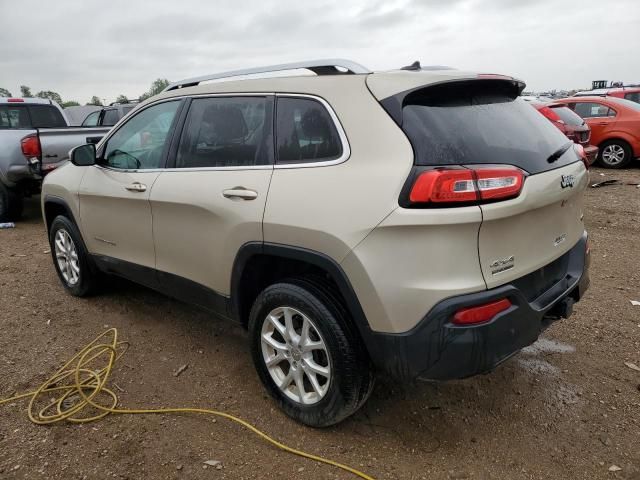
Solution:
[{"label": "front wheel and tire of the tan Jeep SUV", "polygon": [[49,244],[58,278],[67,292],[75,297],[93,293],[98,284],[98,272],[76,225],[58,215],[49,230]]}]

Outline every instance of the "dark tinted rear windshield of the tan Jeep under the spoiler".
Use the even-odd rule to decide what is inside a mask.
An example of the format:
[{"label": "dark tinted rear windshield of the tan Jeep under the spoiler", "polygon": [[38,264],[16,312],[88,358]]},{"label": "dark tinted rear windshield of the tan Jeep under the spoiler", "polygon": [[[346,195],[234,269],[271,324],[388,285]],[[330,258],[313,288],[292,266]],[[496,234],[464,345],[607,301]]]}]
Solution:
[{"label": "dark tinted rear windshield of the tan Jeep under the spoiler", "polygon": [[538,173],[577,159],[547,161],[567,137],[506,82],[441,84],[410,93],[403,105],[416,165],[507,164]]}]

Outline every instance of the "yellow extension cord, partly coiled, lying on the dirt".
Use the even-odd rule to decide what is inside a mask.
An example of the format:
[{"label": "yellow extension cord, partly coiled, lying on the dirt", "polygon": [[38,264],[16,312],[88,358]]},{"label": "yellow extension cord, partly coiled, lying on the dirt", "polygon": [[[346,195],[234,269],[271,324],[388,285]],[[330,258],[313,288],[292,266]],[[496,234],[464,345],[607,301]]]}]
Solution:
[{"label": "yellow extension cord, partly coiled, lying on the dirt", "polygon": [[[109,340],[107,341],[107,339]],[[261,437],[267,443],[270,443],[285,452],[308,458],[310,460],[315,460],[316,462],[332,465],[366,480],[374,480],[373,477],[370,477],[355,468],[349,467],[348,465],[289,447],[284,443],[271,438],[269,435],[258,430],[250,423],[228,413],[209,410],[206,408],[116,408],[118,405],[118,397],[113,390],[106,387],[106,384],[116,360],[118,360],[127,351],[128,347],[129,344],[127,342],[118,342],[118,331],[115,328],[110,328],[103,334],[99,335],[80,352],[75,354],[71,360],[65,363],[62,368],[44,382],[40,388],[32,392],[22,393],[11,398],[0,400],[0,405],[22,398],[29,398],[29,419],[38,425],[46,425],[64,420],[72,423],[88,423],[100,420],[110,413],[129,415],[150,413],[202,413],[215,415],[217,417],[226,418],[232,422],[239,423]],[[108,357],[108,362],[105,367],[100,369],[90,368],[90,364],[92,362],[103,356]],[[36,413],[36,404],[39,403],[38,401],[43,401],[43,396],[45,394],[50,394],[51,392],[57,392],[56,398],[49,401],[44,400],[43,403],[45,403],[45,406]],[[107,402],[108,406],[98,403],[96,400],[96,397],[98,396],[106,396],[109,398],[110,400]],[[78,416],[78,414],[87,407],[93,408],[94,412],[89,416]]]}]

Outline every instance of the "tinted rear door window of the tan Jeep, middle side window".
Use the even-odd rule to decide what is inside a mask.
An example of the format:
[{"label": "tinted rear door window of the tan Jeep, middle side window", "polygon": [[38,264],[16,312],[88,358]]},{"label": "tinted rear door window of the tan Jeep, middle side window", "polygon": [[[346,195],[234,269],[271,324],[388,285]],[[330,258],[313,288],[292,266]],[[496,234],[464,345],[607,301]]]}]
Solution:
[{"label": "tinted rear door window of the tan Jeep, middle side window", "polygon": [[176,168],[272,164],[272,116],[271,97],[193,99],[180,139]]}]

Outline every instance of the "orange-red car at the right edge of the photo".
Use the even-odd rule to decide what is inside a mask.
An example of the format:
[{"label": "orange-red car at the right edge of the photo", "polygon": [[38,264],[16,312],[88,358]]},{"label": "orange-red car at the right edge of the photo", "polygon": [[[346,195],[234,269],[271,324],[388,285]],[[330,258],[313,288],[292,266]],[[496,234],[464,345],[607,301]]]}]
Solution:
[{"label": "orange-red car at the right edge of the photo", "polygon": [[571,97],[553,104],[567,105],[585,119],[603,167],[622,168],[640,157],[640,103],[615,97]]}]

